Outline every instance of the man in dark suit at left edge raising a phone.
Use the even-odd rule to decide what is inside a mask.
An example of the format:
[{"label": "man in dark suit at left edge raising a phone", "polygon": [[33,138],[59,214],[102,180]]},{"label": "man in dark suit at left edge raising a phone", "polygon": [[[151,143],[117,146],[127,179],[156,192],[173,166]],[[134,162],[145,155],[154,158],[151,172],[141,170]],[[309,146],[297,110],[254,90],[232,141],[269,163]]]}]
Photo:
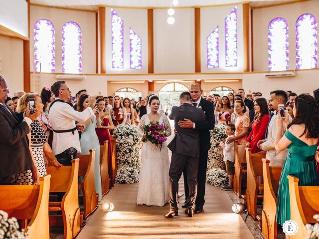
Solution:
[{"label": "man in dark suit at left edge raising a phone", "polygon": [[8,93],[6,81],[0,76],[0,184],[14,184],[15,175],[29,169],[33,182],[36,182],[36,165],[33,164],[26,135],[38,114],[30,115],[27,107],[25,117],[20,121],[4,104]]}]

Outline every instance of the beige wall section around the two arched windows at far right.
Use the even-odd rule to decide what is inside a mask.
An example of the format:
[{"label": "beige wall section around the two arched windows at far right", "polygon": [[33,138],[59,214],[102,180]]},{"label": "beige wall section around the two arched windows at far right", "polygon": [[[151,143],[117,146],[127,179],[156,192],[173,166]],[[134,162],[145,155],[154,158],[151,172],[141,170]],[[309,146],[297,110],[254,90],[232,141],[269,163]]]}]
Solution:
[{"label": "beige wall section around the two arched windows at far right", "polygon": [[318,20],[319,0],[253,10],[254,71],[268,71],[268,24],[275,17],[284,17],[288,22],[289,69],[296,69],[296,21],[304,13],[311,13]]}]

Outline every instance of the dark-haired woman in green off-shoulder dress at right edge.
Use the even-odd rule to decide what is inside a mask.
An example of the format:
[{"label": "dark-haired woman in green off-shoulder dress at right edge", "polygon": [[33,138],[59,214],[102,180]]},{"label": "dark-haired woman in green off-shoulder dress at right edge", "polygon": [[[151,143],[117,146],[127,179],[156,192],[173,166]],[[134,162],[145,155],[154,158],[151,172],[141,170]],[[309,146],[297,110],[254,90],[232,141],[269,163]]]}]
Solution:
[{"label": "dark-haired woman in green off-shoulder dress at right edge", "polygon": [[[318,174],[316,171],[315,154],[319,136],[319,106],[315,99],[306,94],[296,98],[293,113],[295,119],[289,124],[288,113],[285,111],[285,119],[278,113],[277,134],[275,148],[282,151],[288,148],[281,173],[278,201],[277,201],[277,223],[283,224],[290,220],[290,197],[288,186],[288,175],[299,178],[299,186],[318,186]],[[288,130],[281,136],[284,123]],[[286,238],[289,236],[286,235]]]}]

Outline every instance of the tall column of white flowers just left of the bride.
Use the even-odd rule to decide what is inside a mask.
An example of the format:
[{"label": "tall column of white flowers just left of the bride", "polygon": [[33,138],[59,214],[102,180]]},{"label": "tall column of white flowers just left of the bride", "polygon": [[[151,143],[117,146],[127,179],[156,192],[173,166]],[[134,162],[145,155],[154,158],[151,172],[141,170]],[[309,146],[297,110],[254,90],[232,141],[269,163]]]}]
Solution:
[{"label": "tall column of white flowers just left of the bride", "polygon": [[116,183],[137,183],[141,168],[141,138],[138,127],[133,124],[120,124],[113,131],[116,136],[118,170]]}]

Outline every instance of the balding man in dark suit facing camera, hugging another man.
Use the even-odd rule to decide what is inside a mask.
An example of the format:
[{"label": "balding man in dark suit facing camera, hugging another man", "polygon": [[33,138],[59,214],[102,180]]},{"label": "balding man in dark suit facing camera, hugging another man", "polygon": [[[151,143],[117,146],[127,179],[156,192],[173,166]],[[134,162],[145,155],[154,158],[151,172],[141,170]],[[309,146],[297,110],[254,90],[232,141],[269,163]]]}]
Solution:
[{"label": "balding man in dark suit facing camera, hugging another man", "polygon": [[[180,120],[178,125],[181,128],[194,128],[199,130],[199,163],[198,163],[198,176],[197,176],[197,197],[195,213],[201,213],[205,203],[205,188],[206,188],[206,171],[207,171],[207,158],[208,150],[210,149],[210,133],[209,130],[215,127],[215,116],[213,104],[209,101],[204,100],[201,95],[203,93],[201,86],[197,83],[191,84],[189,93],[193,101],[193,107],[201,108],[205,113],[206,119],[193,121],[185,118]],[[178,131],[178,130],[177,130]],[[184,170],[184,183],[187,177],[187,172]],[[185,197],[189,195],[188,188],[185,187]],[[184,203],[182,207],[185,207]]]}]

